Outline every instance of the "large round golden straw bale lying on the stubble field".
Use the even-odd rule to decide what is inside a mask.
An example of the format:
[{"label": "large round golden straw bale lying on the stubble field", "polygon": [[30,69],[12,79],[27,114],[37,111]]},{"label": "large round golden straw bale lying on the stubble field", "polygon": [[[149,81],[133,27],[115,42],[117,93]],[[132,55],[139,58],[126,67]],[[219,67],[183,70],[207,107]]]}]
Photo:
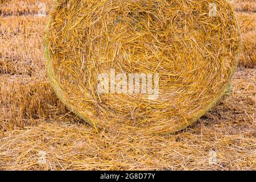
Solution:
[{"label": "large round golden straw bale lying on the stubble field", "polygon": [[[226,1],[57,1],[47,31],[47,68],[60,100],[95,128],[174,133],[225,93],[240,52]],[[99,94],[97,76],[159,73],[159,98]]]}]

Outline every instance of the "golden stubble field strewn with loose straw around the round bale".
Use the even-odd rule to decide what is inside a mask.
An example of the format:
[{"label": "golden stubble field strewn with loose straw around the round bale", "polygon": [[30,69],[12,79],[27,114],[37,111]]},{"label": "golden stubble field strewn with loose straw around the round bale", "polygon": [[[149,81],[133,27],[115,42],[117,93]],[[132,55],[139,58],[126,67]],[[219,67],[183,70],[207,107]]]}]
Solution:
[{"label": "golden stubble field strewn with loose straw around the round bale", "polygon": [[226,96],[165,137],[96,131],[65,109],[46,75],[41,2],[48,14],[52,0],[0,0],[0,170],[256,169],[254,0],[232,1],[243,50]]}]

